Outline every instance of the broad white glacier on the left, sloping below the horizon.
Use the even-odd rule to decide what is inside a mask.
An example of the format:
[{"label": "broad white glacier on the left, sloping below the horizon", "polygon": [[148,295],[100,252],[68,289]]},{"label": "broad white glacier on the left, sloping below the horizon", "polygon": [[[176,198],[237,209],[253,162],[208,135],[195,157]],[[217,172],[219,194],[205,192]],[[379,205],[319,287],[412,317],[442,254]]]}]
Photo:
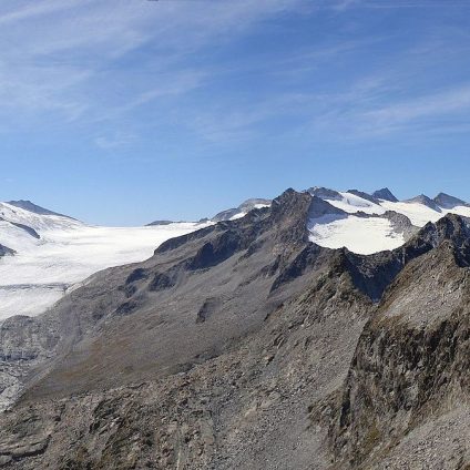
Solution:
[{"label": "broad white glacier on the left, sloping below the horizon", "polygon": [[[0,244],[17,252],[0,258],[0,319],[38,315],[98,270],[144,260],[164,241],[207,226],[91,226],[7,203],[0,203]],[[33,228],[40,238],[12,222]]]}]

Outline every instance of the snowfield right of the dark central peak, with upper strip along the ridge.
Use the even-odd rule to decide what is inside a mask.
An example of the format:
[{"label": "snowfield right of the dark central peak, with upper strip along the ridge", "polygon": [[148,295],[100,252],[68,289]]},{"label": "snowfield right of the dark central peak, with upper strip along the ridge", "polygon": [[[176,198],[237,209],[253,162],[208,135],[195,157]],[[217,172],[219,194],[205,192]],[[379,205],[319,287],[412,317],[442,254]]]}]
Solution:
[{"label": "snowfield right of the dark central peak, with upper strip along the ridge", "polygon": [[[327,214],[309,219],[307,224],[310,232],[309,239],[327,248],[346,247],[364,255],[394,249],[405,243],[403,235],[394,229],[390,221],[379,217],[387,211],[406,215],[416,227],[422,227],[428,222],[437,222],[448,213],[470,217],[470,207],[463,205],[452,208],[438,207],[436,211],[416,201],[378,200],[376,204],[348,192],[338,194],[339,197],[336,198],[323,198],[348,215]],[[372,217],[355,215],[358,212],[372,215]]]}]

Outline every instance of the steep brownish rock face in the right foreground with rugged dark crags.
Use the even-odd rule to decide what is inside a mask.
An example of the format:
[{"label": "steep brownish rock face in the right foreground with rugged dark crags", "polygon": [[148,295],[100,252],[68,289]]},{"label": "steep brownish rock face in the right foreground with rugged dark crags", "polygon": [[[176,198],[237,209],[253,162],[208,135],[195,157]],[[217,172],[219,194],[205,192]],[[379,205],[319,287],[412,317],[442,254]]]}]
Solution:
[{"label": "steep brownish rock face in the right foreground with rugged dark crags", "polygon": [[348,468],[469,461],[469,227],[449,216],[421,236],[435,248],[407,265],[366,325],[331,422]]}]

